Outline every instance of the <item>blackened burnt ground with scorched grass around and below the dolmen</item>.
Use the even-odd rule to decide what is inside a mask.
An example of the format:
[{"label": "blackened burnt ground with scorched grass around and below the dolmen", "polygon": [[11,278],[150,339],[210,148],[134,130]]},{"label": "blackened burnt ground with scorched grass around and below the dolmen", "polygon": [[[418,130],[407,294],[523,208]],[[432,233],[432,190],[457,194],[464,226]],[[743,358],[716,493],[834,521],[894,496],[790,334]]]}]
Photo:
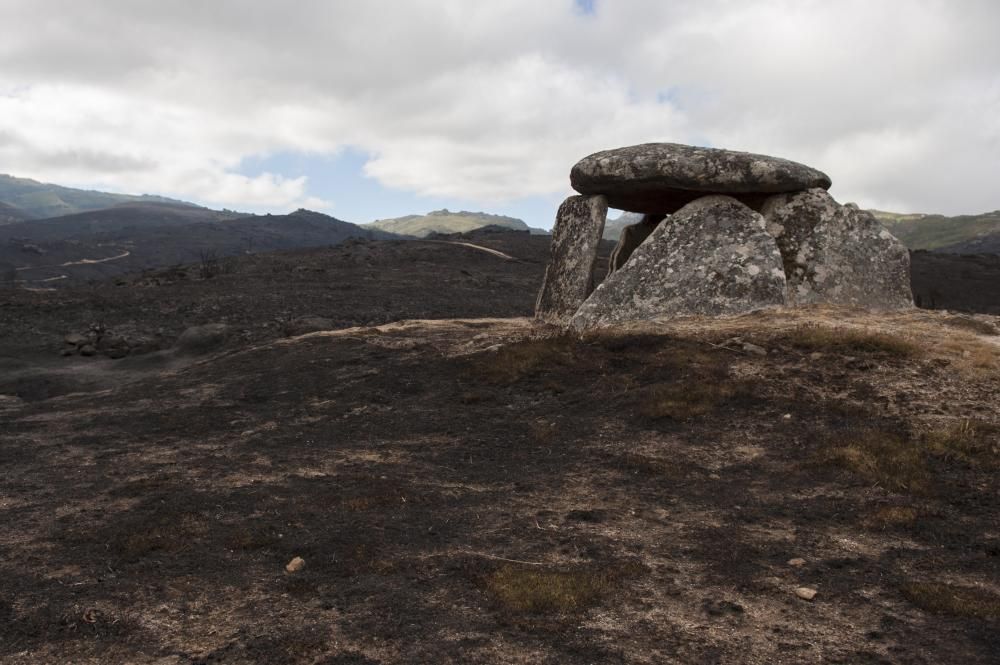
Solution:
[{"label": "blackened burnt ground with scorched grass around and below the dolmen", "polygon": [[[429,243],[326,290],[343,248],[19,295],[34,318],[5,301],[8,362],[105,382],[0,397],[0,661],[997,661],[996,317],[571,338],[476,318],[530,311],[544,259],[490,242],[537,263]],[[98,302],[118,327],[242,332],[55,356]],[[284,338],[288,310],[357,327]],[[376,325],[422,312],[463,318]]]}]

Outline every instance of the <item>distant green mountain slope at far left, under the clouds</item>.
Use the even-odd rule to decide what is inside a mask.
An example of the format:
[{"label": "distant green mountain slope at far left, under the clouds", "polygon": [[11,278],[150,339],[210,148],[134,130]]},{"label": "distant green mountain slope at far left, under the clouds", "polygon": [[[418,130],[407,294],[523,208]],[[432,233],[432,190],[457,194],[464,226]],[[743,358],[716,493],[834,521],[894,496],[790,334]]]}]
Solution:
[{"label": "distant green mountain slope at far left, under the clouds", "polygon": [[[38,182],[29,178],[16,178],[0,174],[0,203],[20,208],[27,215],[27,219],[71,215],[88,210],[110,208],[119,203],[135,202],[192,205],[162,196],[133,196],[75,189]],[[0,215],[2,215],[2,211],[0,211]]]}]

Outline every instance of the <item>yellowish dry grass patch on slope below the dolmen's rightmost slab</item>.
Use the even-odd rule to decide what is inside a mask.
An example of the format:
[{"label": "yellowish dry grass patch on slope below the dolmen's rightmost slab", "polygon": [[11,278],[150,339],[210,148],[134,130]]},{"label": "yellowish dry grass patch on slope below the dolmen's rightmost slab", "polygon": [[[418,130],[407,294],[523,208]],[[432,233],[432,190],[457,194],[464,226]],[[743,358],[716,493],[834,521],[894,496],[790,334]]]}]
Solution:
[{"label": "yellowish dry grass patch on slope below the dolmen's rightmost slab", "polygon": [[930,472],[919,446],[896,432],[865,429],[830,439],[818,462],[897,492],[924,492],[930,485]]}]

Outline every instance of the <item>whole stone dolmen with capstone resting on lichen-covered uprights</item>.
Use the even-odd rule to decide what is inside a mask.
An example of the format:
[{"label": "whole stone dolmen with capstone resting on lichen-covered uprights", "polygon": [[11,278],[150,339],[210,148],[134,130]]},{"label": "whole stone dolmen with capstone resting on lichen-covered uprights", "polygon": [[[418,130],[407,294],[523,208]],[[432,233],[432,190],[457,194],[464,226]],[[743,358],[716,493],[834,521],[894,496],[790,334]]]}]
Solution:
[{"label": "whole stone dolmen with capstone resting on lichen-covered uprights", "polygon": [[[797,162],[676,143],[598,152],[570,172],[535,315],[575,330],[837,304],[913,306],[909,252]],[[594,288],[608,207],[641,213]]]}]

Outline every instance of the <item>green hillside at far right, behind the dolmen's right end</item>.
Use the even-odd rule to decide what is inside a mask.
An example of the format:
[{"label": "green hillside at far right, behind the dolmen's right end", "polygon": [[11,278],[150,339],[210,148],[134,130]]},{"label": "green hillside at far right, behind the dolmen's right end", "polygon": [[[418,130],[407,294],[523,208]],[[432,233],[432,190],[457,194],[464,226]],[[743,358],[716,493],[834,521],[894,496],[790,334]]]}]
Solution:
[{"label": "green hillside at far right, behind the dolmen's right end", "polygon": [[956,217],[871,212],[910,249],[954,251],[990,236],[1000,238],[1000,210]]}]

